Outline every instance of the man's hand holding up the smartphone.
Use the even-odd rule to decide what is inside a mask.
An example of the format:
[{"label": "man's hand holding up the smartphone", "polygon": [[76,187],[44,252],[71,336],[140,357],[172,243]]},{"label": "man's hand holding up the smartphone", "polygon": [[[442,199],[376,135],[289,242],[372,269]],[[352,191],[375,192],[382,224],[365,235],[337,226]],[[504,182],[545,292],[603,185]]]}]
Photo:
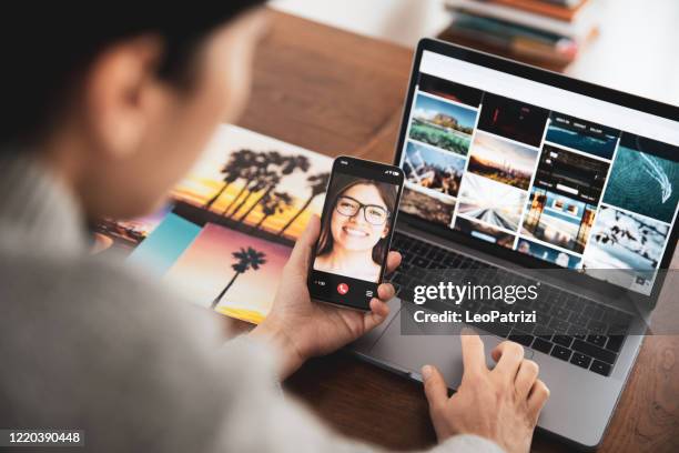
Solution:
[{"label": "man's hand holding up the smartphone", "polygon": [[[285,264],[268,316],[252,332],[273,341],[282,350],[281,379],[292,374],[306,359],[331,353],[379,325],[389,313],[386,301],[394,296],[392,284],[381,284],[378,299],[371,300],[367,313],[313,302],[306,276],[320,225],[314,215]],[[394,271],[399,263],[401,254],[389,252],[387,272]]]}]

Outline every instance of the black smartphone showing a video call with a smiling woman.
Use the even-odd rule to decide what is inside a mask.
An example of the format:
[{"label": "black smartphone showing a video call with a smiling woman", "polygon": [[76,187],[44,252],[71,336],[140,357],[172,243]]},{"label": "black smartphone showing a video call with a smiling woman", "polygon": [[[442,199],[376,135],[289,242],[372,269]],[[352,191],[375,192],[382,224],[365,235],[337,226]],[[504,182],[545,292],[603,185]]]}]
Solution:
[{"label": "black smartphone showing a video call with a smiling woman", "polygon": [[403,182],[398,167],[335,159],[308,272],[312,299],[369,310],[384,278]]}]

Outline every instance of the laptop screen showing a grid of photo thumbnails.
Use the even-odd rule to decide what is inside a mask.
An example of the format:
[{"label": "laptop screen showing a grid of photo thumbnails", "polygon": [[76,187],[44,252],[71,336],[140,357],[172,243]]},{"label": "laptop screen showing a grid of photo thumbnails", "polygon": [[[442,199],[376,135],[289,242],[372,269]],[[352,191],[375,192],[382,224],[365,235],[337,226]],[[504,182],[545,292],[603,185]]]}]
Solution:
[{"label": "laptop screen showing a grid of photo thumbnails", "polygon": [[650,294],[677,221],[679,123],[425,50],[401,210]]}]

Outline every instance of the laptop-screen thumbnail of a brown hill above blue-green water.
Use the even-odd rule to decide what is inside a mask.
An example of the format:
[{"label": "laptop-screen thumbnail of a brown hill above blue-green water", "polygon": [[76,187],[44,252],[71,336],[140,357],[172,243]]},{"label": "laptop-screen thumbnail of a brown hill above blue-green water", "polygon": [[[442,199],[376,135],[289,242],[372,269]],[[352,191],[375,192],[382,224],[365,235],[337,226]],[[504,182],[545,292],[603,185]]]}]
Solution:
[{"label": "laptop-screen thumbnail of a brown hill above blue-green water", "polygon": [[411,139],[467,155],[476,114],[476,110],[417,94]]}]

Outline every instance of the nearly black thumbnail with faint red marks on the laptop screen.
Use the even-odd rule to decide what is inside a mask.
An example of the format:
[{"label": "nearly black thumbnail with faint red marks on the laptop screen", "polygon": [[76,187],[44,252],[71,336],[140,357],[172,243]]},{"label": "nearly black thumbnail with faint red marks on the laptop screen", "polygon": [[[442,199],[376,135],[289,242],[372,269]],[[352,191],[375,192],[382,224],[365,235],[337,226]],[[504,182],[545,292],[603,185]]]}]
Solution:
[{"label": "nearly black thumbnail with faint red marks on the laptop screen", "polygon": [[486,92],[478,129],[539,148],[549,110]]}]

